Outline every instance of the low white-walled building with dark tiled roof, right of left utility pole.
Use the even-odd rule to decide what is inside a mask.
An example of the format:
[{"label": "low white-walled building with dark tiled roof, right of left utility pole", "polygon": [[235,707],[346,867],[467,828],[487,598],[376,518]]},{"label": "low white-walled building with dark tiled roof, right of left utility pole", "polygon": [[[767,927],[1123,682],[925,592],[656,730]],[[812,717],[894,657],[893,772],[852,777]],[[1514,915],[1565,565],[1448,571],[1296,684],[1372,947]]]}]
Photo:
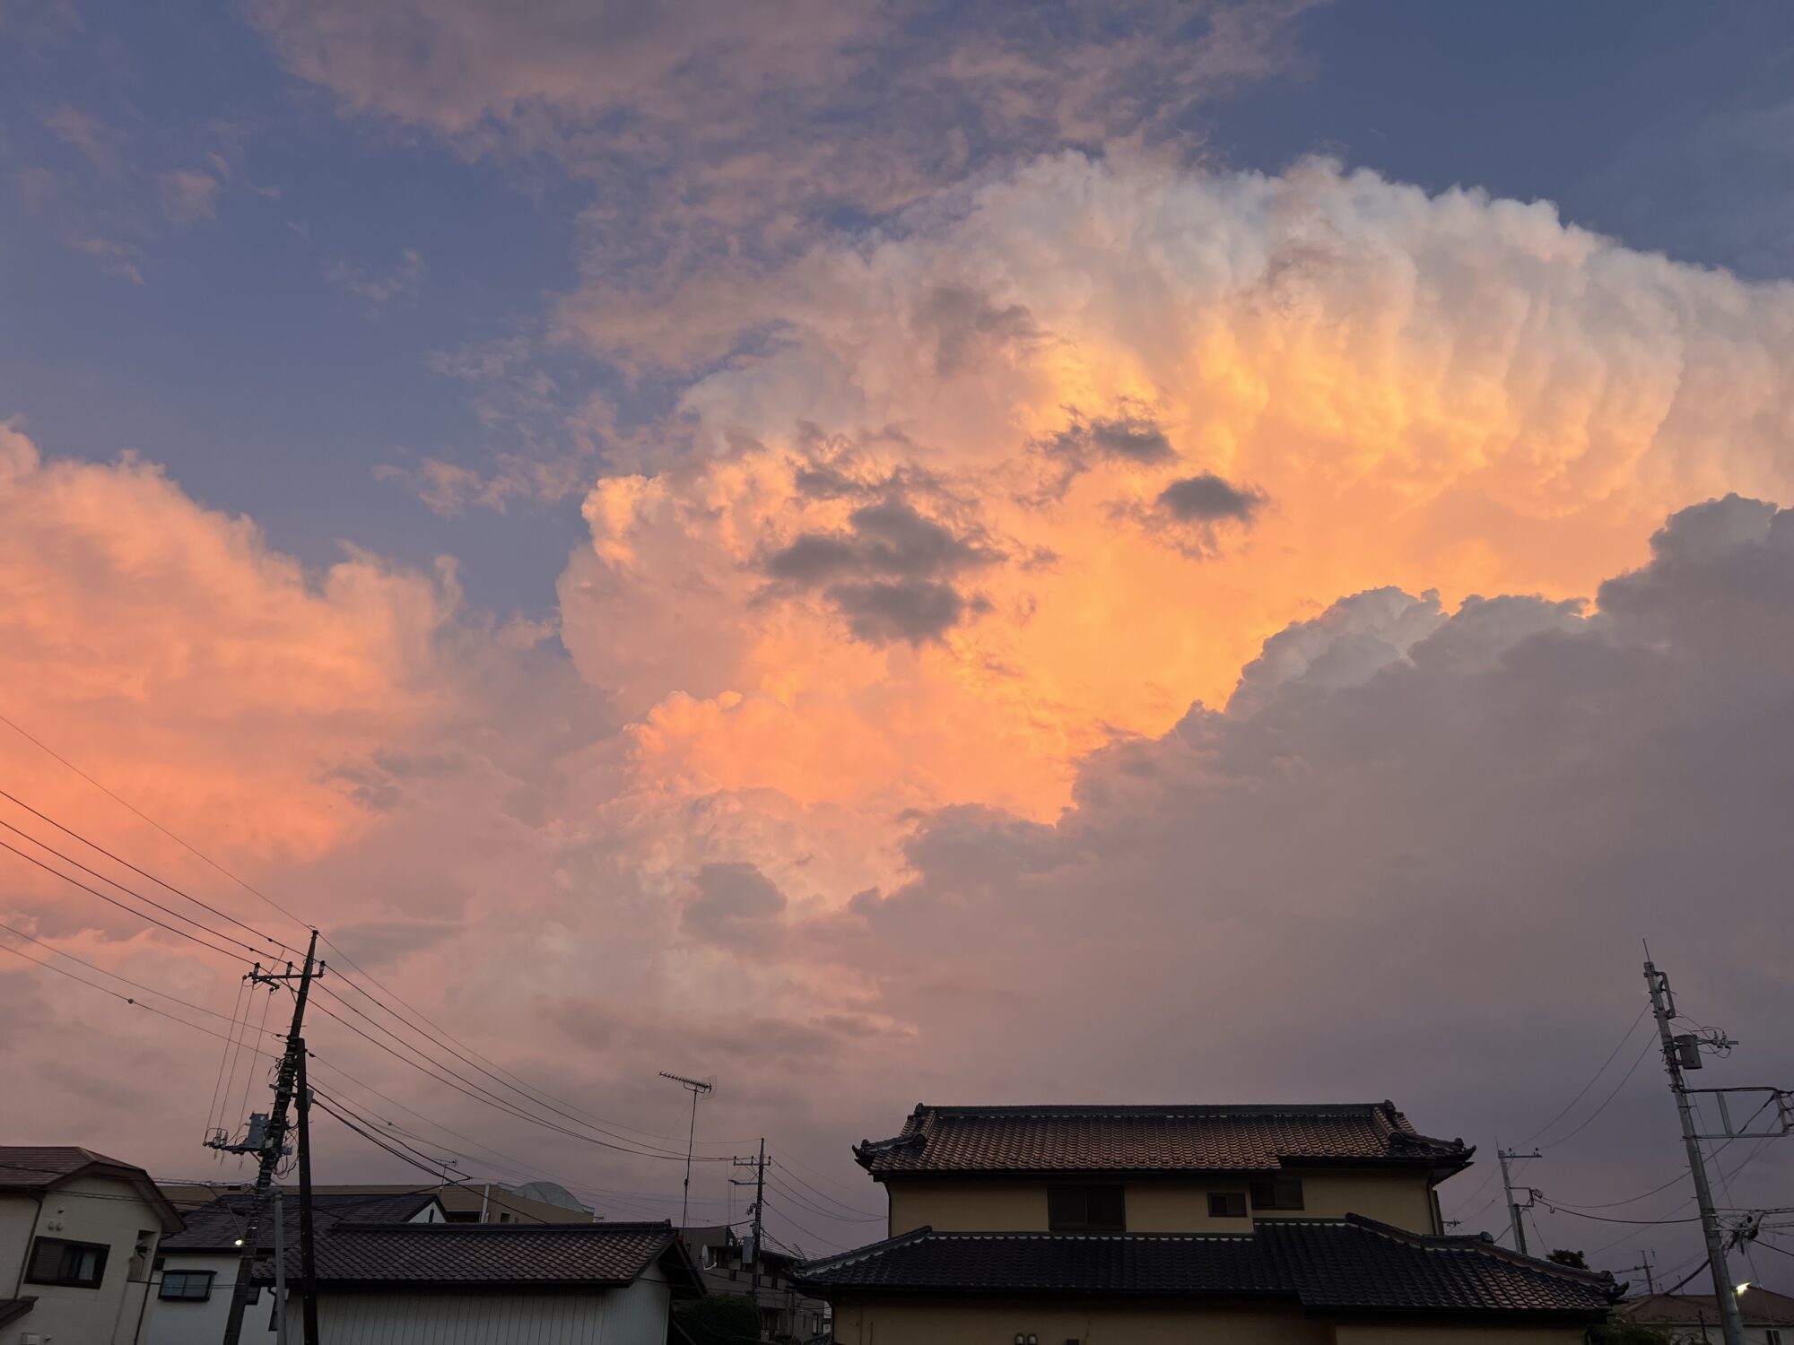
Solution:
[{"label": "low white-walled building with dark tiled roof, right of left utility pole", "polygon": [[[316,1243],[323,1345],[666,1345],[673,1300],[703,1293],[664,1219],[343,1219],[319,1230]],[[289,1284],[298,1273],[298,1250],[289,1248]]]}]

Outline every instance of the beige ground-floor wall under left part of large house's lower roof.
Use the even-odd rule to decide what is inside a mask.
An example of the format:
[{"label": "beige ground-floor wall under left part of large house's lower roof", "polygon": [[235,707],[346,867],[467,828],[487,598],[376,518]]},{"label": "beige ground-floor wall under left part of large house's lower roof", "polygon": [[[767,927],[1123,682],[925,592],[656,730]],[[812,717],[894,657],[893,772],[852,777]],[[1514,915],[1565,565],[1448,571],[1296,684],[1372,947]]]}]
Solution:
[{"label": "beige ground-floor wall under left part of large house's lower roof", "polygon": [[[1200,1334],[1195,1331],[1200,1327]],[[1008,1345],[1032,1332],[1041,1345],[1331,1345],[1324,1322],[1286,1309],[1127,1306],[1114,1302],[890,1302],[843,1298],[834,1307],[838,1345]]]}]

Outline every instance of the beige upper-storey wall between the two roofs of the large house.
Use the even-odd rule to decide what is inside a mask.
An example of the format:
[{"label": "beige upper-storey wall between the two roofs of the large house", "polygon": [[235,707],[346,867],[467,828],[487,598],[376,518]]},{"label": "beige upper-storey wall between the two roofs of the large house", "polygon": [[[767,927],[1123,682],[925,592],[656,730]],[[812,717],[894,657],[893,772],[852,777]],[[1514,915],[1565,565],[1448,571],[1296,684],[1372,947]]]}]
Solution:
[{"label": "beige upper-storey wall between the two roofs of the large house", "polygon": [[[1398,1228],[1430,1234],[1433,1202],[1426,1175],[1417,1171],[1302,1171],[1301,1210],[1254,1210],[1243,1219],[1211,1219],[1209,1193],[1247,1193],[1243,1176],[1213,1176],[1197,1182],[1128,1182],[1128,1232],[1250,1232],[1252,1218],[1338,1219],[1362,1214]],[[940,1232],[1046,1232],[1044,1182],[892,1182],[890,1236],[924,1223]]]}]

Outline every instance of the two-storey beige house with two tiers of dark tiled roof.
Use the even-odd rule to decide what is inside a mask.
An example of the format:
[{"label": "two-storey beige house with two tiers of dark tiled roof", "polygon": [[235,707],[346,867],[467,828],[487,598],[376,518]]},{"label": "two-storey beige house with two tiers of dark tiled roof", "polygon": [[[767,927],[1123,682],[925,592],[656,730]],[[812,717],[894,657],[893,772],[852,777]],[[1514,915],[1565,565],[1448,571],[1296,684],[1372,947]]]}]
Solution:
[{"label": "two-storey beige house with two tiers of dark tiled roof", "polygon": [[1579,1345],[1609,1275],[1448,1237],[1469,1166],[1392,1103],[917,1106],[888,1237],[804,1264],[843,1345]]}]

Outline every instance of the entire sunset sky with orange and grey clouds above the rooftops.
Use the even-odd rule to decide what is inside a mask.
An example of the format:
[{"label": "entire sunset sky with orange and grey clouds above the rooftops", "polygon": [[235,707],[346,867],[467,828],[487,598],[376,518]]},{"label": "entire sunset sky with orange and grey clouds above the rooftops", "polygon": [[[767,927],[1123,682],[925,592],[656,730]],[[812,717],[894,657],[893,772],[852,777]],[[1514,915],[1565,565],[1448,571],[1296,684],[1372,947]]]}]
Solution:
[{"label": "entire sunset sky with orange and grey clouds above the rooftops", "polygon": [[662,1069],[694,1210],[766,1135],[807,1252],[917,1101],[1390,1098],[1460,1230],[1537,1144],[1534,1246],[1699,1264],[1640,963],[1794,1081],[1790,65],[1771,4],[0,5],[0,1133],[239,1175],[205,1033],[316,924],[339,1106],[610,1216],[676,1216]]}]

